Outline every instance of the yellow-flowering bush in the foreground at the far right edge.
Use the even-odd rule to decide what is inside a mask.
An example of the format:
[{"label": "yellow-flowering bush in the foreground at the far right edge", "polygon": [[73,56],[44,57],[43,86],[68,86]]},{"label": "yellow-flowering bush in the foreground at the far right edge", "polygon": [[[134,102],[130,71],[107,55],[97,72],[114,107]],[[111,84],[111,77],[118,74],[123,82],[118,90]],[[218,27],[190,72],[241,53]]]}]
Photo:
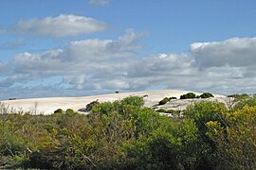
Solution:
[{"label": "yellow-flowering bush in the foreground at the far right edge", "polygon": [[219,169],[255,169],[256,107],[245,106],[229,112],[224,119],[228,127],[222,126],[219,121],[206,124],[207,134],[218,146]]}]

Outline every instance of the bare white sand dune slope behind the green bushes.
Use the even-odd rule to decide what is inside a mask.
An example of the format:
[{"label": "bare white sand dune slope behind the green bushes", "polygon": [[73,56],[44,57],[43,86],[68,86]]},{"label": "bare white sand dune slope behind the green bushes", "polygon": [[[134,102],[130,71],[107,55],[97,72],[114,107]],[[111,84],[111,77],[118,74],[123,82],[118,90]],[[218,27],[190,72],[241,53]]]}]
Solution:
[{"label": "bare white sand dune slope behind the green bushes", "polygon": [[[104,101],[114,101],[125,98],[131,95],[143,96],[147,94],[148,96],[144,97],[145,106],[152,107],[156,105],[164,97],[177,97],[184,93],[189,93],[187,91],[174,91],[174,90],[156,90],[156,91],[143,91],[143,92],[134,92],[134,93],[110,93],[94,96],[82,96],[82,97],[49,97],[49,98],[29,98],[29,99],[18,99],[18,100],[6,100],[2,101],[6,105],[9,105],[10,108],[15,110],[29,110],[35,113],[44,113],[49,114],[54,110],[59,108],[66,110],[79,110],[84,108],[86,104],[99,99],[100,102]],[[196,93],[201,94],[201,93]],[[214,94],[215,97],[224,97],[223,95]]]}]

